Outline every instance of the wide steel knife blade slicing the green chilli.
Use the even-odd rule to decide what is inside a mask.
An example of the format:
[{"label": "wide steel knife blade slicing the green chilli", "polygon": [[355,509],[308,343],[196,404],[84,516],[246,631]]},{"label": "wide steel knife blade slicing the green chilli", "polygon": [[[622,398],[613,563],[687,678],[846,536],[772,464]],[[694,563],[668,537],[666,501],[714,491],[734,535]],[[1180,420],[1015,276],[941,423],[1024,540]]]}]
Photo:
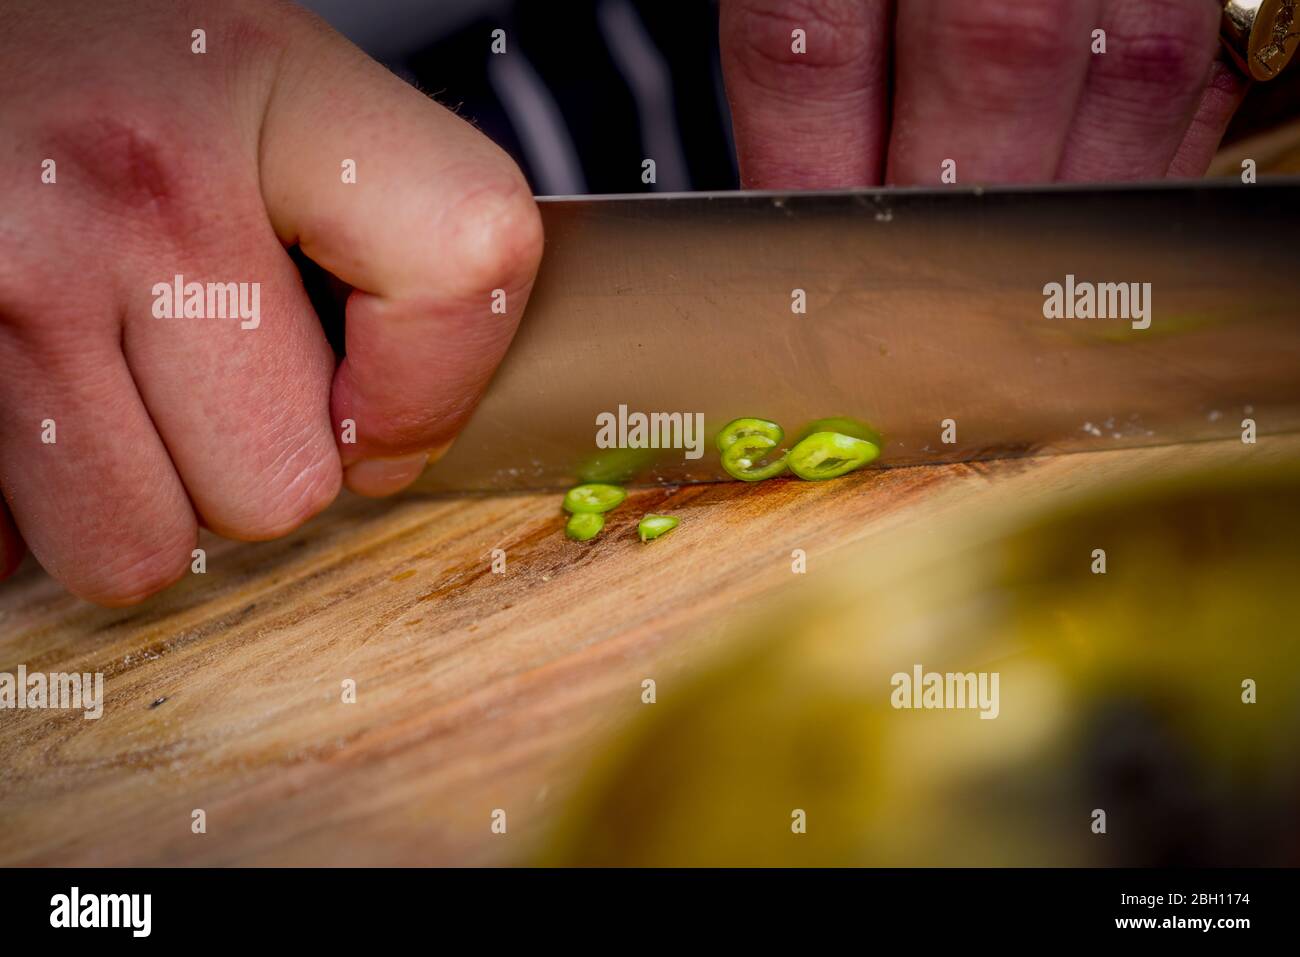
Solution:
[{"label": "wide steel knife blade slicing the green chilli", "polygon": [[[425,490],[727,478],[740,416],[866,423],[872,467],[1300,429],[1296,178],[540,207],[519,334]],[[670,447],[602,447],[655,413]]]}]

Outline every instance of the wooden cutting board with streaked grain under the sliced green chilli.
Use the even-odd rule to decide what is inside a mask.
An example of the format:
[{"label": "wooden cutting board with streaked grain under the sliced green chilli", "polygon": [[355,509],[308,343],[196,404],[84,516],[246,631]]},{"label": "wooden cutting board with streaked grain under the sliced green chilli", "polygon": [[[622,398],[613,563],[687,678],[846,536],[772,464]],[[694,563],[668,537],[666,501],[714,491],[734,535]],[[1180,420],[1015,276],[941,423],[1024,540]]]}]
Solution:
[{"label": "wooden cutting board with streaked grain under the sliced green chilli", "polygon": [[[901,525],[942,547],[997,502],[1243,454],[1300,437],[644,490],[589,545],[552,494],[344,498],[278,542],[205,541],[205,575],[127,610],[29,560],[0,585],[0,671],[103,671],[105,705],[0,711],[0,863],[526,861],[594,749],[655,706],[642,681],[670,698],[760,596]],[[681,525],[642,545],[647,511]]]}]

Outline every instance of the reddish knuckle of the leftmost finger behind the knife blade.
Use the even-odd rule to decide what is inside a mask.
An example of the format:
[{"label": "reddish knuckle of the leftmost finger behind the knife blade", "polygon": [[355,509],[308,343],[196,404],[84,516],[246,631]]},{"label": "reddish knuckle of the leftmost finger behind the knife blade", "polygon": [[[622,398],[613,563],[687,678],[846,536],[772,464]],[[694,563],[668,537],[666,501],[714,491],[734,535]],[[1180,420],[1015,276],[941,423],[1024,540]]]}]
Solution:
[{"label": "reddish knuckle of the leftmost finger behind the knife blade", "polygon": [[[792,31],[806,34],[796,52]],[[866,4],[741,0],[724,9],[725,51],[744,82],[784,94],[857,91],[879,56]]]}]

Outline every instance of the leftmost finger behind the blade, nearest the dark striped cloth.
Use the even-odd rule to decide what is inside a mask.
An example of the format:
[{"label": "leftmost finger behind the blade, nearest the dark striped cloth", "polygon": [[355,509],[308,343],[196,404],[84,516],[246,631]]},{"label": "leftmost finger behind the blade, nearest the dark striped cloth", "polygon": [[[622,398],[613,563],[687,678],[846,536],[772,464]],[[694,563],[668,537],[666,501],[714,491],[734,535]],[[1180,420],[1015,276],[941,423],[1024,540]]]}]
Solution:
[{"label": "leftmost finger behind the blade, nearest the dark striped cloth", "polygon": [[888,0],[723,0],[719,42],[741,183],[879,185],[890,40]]}]

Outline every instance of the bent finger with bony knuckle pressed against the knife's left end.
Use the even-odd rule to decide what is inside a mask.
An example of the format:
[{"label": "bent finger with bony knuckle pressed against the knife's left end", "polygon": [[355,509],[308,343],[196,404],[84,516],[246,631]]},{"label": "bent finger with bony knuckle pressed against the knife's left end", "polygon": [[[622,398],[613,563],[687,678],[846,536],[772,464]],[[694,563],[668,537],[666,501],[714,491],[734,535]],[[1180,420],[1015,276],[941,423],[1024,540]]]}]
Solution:
[{"label": "bent finger with bony knuckle pressed against the knife's left end", "polygon": [[261,176],[281,241],[355,287],[335,434],[355,423],[350,488],[394,492],[462,428],[514,335],[537,204],[490,140],[326,34],[286,59]]}]

